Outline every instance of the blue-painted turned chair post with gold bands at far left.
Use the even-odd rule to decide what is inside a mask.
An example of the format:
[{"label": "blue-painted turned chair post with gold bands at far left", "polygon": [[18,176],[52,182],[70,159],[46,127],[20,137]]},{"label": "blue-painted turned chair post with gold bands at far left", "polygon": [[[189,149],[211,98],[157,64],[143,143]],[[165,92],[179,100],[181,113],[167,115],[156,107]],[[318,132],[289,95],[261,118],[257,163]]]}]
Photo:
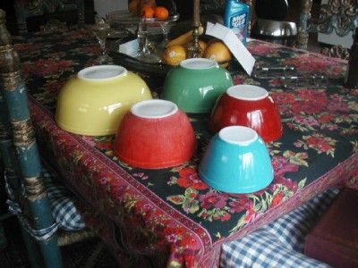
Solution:
[{"label": "blue-painted turned chair post with gold bands at far left", "polygon": [[[0,87],[13,134],[13,146],[21,168],[21,180],[32,215],[30,227],[55,230],[47,190],[41,178],[38,146],[30,118],[28,96],[21,74],[20,59],[13,49],[10,34],[4,26],[5,13],[0,10]],[[54,233],[38,241],[47,267],[63,267]]]}]

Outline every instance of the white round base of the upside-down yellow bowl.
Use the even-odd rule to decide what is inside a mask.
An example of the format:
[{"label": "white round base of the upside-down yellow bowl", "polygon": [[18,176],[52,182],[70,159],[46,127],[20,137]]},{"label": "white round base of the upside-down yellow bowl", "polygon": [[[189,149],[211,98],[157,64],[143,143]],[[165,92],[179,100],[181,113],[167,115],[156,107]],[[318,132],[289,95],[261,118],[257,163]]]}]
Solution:
[{"label": "white round base of the upside-down yellow bowl", "polygon": [[106,81],[122,77],[127,72],[127,69],[120,65],[95,65],[82,69],[77,73],[77,77],[88,81]]}]

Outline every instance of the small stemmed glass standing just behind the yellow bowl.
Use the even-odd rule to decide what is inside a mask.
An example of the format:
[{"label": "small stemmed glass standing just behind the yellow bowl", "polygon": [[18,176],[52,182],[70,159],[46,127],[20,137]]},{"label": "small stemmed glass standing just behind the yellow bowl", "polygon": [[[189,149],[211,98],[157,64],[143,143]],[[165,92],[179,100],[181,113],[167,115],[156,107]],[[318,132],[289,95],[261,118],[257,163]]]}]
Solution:
[{"label": "small stemmed glass standing just behind the yellow bowl", "polygon": [[99,64],[111,64],[112,58],[107,54],[106,39],[111,31],[109,24],[103,18],[96,18],[96,23],[92,26],[92,31],[98,39],[100,54],[95,61]]}]

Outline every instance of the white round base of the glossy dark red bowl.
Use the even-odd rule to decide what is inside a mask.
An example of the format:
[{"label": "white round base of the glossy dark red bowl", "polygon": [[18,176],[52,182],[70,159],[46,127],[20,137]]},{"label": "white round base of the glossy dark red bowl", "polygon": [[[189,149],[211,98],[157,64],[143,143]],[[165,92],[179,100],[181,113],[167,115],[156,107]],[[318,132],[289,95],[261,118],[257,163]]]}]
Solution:
[{"label": "white round base of the glossy dark red bowl", "polygon": [[268,96],[268,90],[253,85],[235,85],[227,88],[226,94],[236,99],[258,101]]}]

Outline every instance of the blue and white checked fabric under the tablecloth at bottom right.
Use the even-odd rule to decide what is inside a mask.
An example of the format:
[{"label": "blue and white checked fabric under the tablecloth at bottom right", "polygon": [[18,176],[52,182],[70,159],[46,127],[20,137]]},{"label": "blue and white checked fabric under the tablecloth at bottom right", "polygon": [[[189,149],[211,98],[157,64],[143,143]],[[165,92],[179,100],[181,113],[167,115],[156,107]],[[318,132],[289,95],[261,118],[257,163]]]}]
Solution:
[{"label": "blue and white checked fabric under the tablecloth at bottom right", "polygon": [[303,255],[304,239],[338,193],[328,189],[243,239],[223,244],[220,267],[330,267]]}]

